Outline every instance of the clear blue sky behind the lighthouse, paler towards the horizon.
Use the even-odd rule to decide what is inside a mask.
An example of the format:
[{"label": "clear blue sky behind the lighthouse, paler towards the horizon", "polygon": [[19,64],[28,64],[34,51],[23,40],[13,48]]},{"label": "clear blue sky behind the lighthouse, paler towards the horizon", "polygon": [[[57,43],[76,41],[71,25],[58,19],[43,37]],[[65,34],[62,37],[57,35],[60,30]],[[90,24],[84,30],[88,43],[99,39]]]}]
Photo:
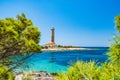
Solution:
[{"label": "clear blue sky behind the lighthouse, paler towards the horizon", "polygon": [[41,31],[40,44],[109,46],[120,14],[120,0],[0,0],[0,19],[25,13]]}]

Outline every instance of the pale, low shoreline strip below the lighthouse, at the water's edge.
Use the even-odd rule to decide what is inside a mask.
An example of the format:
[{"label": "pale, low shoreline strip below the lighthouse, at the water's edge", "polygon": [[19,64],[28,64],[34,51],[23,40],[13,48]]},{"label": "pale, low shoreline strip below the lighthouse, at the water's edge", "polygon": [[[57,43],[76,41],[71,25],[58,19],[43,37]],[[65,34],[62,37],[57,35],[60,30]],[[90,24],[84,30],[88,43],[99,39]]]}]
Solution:
[{"label": "pale, low shoreline strip below the lighthouse, at the water's edge", "polygon": [[73,51],[73,50],[91,50],[90,48],[48,48],[42,49],[43,52],[51,51]]}]

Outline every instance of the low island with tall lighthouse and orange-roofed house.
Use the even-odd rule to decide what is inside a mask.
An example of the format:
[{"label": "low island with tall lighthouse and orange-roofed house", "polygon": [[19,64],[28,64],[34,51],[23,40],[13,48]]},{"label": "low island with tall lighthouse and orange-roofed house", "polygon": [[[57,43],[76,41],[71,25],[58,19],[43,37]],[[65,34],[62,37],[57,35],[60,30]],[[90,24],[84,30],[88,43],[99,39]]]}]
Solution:
[{"label": "low island with tall lighthouse and orange-roofed house", "polygon": [[51,42],[42,46],[43,52],[49,51],[68,51],[68,50],[90,50],[89,48],[80,48],[76,46],[63,46],[55,43],[55,28],[51,28]]}]

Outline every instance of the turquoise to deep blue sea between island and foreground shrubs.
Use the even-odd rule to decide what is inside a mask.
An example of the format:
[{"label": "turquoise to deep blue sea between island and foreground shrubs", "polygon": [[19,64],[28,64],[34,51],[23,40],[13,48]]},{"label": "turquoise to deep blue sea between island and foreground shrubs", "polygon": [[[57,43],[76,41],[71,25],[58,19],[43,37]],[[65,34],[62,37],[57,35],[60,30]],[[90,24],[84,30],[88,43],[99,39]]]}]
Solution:
[{"label": "turquoise to deep blue sea between island and foreground shrubs", "polygon": [[18,68],[17,71],[64,72],[71,62],[74,63],[77,60],[94,60],[103,63],[107,60],[106,52],[107,49],[37,53],[25,61],[25,64],[28,65],[26,69]]}]

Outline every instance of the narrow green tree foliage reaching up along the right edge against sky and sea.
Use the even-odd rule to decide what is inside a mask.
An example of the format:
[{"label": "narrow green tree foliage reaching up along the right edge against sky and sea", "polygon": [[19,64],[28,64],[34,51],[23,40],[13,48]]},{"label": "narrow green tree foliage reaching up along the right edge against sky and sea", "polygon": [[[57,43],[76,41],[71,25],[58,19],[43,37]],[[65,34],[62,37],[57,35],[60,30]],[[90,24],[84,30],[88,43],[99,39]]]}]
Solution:
[{"label": "narrow green tree foliage reaching up along the right edge against sky and sea", "polygon": [[114,42],[109,49],[108,56],[112,64],[120,67],[120,15],[115,18],[115,22],[118,34],[114,38]]}]

